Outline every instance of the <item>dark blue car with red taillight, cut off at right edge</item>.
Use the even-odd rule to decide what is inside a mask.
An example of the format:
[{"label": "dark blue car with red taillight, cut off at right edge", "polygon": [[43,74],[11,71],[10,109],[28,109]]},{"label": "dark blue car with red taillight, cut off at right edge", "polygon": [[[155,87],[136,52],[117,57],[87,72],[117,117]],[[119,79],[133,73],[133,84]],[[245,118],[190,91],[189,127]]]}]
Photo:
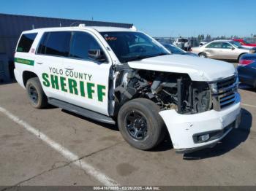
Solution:
[{"label": "dark blue car with red taillight, cut off at right edge", "polygon": [[239,81],[256,88],[256,53],[242,55],[238,63]]}]

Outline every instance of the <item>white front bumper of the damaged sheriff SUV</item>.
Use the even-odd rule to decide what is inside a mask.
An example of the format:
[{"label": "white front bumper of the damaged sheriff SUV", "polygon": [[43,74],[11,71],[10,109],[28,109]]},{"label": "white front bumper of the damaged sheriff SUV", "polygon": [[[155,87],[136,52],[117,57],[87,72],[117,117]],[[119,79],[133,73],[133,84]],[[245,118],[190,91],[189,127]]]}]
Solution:
[{"label": "white front bumper of the damaged sheriff SUV", "polygon": [[[177,152],[194,152],[197,149],[214,147],[240,122],[240,95],[236,93],[235,103],[217,112],[211,110],[199,114],[178,114],[174,109],[159,112],[165,121],[170,139]],[[197,141],[195,137],[212,135],[207,141]]]}]

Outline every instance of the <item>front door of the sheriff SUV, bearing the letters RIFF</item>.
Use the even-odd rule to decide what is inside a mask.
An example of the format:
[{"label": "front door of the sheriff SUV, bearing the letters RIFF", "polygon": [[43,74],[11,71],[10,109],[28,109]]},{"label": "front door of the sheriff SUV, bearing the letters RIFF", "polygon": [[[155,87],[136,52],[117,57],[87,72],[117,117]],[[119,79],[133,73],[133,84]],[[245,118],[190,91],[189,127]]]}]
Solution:
[{"label": "front door of the sheriff SUV, bearing the letters RIFF", "polygon": [[89,58],[89,50],[107,51],[90,31],[73,31],[69,58],[64,58],[67,101],[108,115],[108,90],[111,61]]}]

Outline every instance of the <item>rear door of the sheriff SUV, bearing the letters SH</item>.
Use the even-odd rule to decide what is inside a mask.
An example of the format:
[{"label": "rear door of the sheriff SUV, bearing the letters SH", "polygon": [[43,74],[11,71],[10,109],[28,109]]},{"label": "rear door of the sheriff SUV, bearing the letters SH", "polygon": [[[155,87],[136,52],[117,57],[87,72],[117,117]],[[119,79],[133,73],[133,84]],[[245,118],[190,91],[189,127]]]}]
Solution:
[{"label": "rear door of the sheriff SUV, bearing the letters SH", "polygon": [[69,54],[70,38],[71,31],[45,32],[35,55],[35,70],[39,73],[45,94],[63,101],[67,101],[66,92],[61,87],[63,58]]}]

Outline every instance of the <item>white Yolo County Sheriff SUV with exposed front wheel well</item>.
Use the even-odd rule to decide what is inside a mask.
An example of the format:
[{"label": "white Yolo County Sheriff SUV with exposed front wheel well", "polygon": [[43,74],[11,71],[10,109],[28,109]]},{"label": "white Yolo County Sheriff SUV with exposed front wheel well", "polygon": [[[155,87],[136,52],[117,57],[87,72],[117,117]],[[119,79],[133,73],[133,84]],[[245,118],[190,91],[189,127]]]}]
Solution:
[{"label": "white Yolo County Sheriff SUV with exposed front wheel well", "polygon": [[238,78],[230,63],[172,55],[134,28],[24,31],[15,78],[35,108],[48,104],[118,123],[138,149],[167,134],[178,152],[212,147],[238,126]]}]

